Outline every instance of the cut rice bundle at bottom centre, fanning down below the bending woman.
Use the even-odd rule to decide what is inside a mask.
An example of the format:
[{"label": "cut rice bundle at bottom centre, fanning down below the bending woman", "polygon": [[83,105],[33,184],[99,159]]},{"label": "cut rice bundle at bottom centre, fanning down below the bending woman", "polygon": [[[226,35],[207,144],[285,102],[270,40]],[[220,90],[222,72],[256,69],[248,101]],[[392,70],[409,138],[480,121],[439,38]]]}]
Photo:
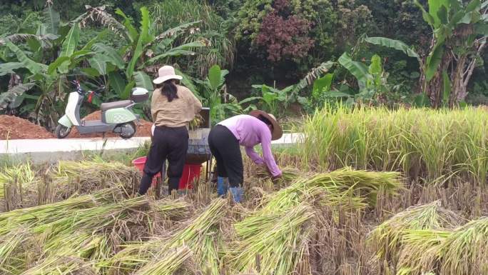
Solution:
[{"label": "cut rice bundle at bottom centre, fanning down below the bending woman", "polygon": [[230,265],[238,272],[293,274],[305,261],[309,229],[304,225],[313,216],[313,209],[302,203],[238,222],[239,241],[229,252]]}]

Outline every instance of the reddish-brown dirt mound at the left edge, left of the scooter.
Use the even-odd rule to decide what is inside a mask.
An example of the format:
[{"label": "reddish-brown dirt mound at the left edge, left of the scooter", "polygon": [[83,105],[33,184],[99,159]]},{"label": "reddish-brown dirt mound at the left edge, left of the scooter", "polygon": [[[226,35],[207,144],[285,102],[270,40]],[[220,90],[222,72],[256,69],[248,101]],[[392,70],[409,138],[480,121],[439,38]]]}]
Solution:
[{"label": "reddish-brown dirt mound at the left edge, left of the scooter", "polygon": [[27,119],[0,115],[0,139],[52,139],[53,137],[53,134],[42,126]]}]

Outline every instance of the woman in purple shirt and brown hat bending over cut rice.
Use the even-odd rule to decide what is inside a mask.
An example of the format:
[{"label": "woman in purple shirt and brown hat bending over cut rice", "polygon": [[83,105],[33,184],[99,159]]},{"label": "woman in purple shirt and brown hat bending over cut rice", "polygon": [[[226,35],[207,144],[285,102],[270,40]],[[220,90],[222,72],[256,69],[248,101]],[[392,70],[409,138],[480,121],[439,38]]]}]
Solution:
[{"label": "woman in purple shirt and brown hat bending over cut rice", "polygon": [[[280,178],[281,171],[271,153],[271,141],[281,136],[283,130],[275,116],[259,110],[251,111],[249,115],[233,116],[213,127],[208,135],[208,145],[217,160],[218,195],[225,196],[227,193],[224,181],[228,179],[234,201],[240,202],[242,199],[244,166],[240,146],[245,146],[246,154],[255,164],[268,167],[273,180]],[[263,158],[254,151],[254,146],[258,144],[263,149]]]}]

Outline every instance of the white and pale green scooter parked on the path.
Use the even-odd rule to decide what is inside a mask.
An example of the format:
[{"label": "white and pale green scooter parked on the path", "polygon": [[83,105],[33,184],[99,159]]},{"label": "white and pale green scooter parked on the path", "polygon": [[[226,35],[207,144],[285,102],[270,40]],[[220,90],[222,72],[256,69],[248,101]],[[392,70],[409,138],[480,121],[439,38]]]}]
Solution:
[{"label": "white and pale green scooter parked on the path", "polygon": [[101,120],[85,121],[80,119],[80,107],[83,104],[83,99],[88,94],[88,101],[91,101],[93,94],[97,94],[104,88],[97,91],[83,91],[79,81],[73,81],[73,84],[76,86],[76,91],[69,94],[65,114],[59,119],[59,124],[56,126],[58,139],[68,136],[73,126],[76,127],[80,134],[113,131],[123,139],[130,139],[136,134],[137,128],[134,121],[139,120],[139,115],[134,114],[131,108],[137,103],[148,99],[149,91],[147,89],[132,89],[130,100],[102,103],[100,106]]}]

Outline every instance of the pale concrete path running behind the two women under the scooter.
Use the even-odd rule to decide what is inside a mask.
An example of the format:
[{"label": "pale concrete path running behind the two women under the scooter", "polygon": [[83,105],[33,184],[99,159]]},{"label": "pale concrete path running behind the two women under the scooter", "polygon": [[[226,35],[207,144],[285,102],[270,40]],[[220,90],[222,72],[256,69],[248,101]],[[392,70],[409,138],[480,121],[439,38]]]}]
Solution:
[{"label": "pale concrete path running behind the two women under the scooter", "polygon": [[[300,142],[303,134],[283,134],[273,141],[274,146],[290,146]],[[0,158],[30,159],[36,163],[55,162],[60,159],[78,159],[87,152],[104,151],[108,154],[130,152],[151,141],[149,137],[132,139],[12,139],[0,141]]]}]

